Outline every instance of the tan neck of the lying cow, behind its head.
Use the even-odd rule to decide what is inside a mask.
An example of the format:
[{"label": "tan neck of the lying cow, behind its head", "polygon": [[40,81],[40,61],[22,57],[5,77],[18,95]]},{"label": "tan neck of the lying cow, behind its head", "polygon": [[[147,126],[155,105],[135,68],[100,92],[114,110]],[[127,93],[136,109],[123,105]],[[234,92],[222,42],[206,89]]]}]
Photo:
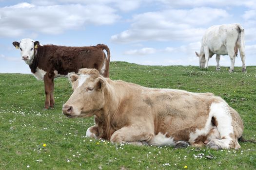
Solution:
[{"label": "tan neck of the lying cow, behind its head", "polygon": [[[124,119],[126,113],[123,113],[123,108],[120,106],[128,107],[124,102],[131,97],[129,88],[130,90],[133,89],[133,85],[122,81],[107,79],[107,83],[104,86],[104,107],[95,114],[95,120],[97,120],[95,123],[98,124],[98,128],[102,131],[101,134],[103,135],[100,137],[110,139],[116,130],[121,128],[123,124],[126,124],[125,120],[127,119]],[[122,116],[120,116],[120,114],[122,114]],[[120,121],[120,119],[122,120]]]}]

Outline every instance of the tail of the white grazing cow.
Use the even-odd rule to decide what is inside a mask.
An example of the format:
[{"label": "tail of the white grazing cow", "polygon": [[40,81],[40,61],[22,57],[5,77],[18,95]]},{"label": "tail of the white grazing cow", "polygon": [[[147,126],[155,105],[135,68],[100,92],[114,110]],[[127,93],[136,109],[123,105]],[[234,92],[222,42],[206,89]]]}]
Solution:
[{"label": "tail of the white grazing cow", "polygon": [[240,55],[244,55],[244,29],[240,24],[236,25],[237,28],[237,32],[238,32],[238,37],[237,37],[237,41],[236,41],[236,45],[235,45],[235,53],[236,53],[236,57],[237,57],[237,52],[239,49]]}]

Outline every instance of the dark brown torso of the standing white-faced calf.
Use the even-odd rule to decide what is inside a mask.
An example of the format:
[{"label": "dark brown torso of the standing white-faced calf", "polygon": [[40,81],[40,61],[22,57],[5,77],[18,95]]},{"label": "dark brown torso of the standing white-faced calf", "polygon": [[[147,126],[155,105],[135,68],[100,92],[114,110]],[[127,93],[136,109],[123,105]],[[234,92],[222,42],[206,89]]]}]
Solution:
[{"label": "dark brown torso of the standing white-faced calf", "polygon": [[104,52],[92,47],[66,47],[46,45],[41,48],[39,68],[58,75],[78,72],[80,68],[96,68],[100,70],[105,58]]}]

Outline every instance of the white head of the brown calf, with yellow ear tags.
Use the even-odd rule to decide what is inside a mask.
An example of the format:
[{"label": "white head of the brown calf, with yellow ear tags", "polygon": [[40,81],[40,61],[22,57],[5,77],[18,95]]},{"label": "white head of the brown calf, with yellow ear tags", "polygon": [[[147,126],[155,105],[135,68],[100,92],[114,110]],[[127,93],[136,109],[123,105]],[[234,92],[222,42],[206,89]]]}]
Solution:
[{"label": "white head of the brown calf, with yellow ear tags", "polygon": [[34,59],[34,53],[36,52],[39,42],[29,38],[24,38],[19,42],[14,41],[13,45],[16,49],[20,49],[20,56],[26,64],[30,65]]}]

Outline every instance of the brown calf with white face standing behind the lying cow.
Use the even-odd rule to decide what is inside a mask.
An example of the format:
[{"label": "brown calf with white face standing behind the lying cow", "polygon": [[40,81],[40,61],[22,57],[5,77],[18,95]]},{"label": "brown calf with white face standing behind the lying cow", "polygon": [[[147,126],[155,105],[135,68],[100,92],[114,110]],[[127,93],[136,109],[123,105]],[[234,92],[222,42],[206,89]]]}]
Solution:
[{"label": "brown calf with white face standing behind the lying cow", "polygon": [[[80,68],[96,68],[101,75],[109,77],[110,51],[104,44],[90,47],[66,47],[39,45],[38,41],[22,39],[13,42],[20,49],[22,60],[29,65],[38,80],[44,81],[45,105],[54,106],[54,78],[67,76],[69,72],[77,73]],[[107,51],[107,57],[103,50]]]}]

